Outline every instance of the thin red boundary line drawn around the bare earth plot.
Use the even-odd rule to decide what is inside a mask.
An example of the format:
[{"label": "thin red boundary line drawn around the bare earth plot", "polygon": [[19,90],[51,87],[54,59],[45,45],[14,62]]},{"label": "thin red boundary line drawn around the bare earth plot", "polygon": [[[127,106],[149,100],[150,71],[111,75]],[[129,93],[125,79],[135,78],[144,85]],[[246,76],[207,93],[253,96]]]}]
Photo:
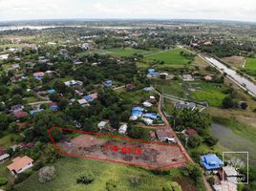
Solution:
[{"label": "thin red boundary line drawn around the bare earth plot", "polygon": [[[137,164],[137,163],[133,163],[133,162],[118,161],[118,160],[113,160],[113,159],[100,159],[100,158],[89,157],[89,156],[84,156],[84,155],[75,155],[75,154],[72,154],[72,153],[64,153],[64,152],[61,152],[58,149],[56,143],[54,142],[54,139],[53,139],[53,137],[51,135],[51,131],[53,131],[53,129],[59,129],[59,130],[62,130],[62,131],[69,131],[69,132],[77,132],[77,133],[81,133],[81,134],[85,134],[85,135],[105,136],[105,137],[108,137],[108,138],[121,138],[121,139],[125,139],[125,140],[133,140],[133,141],[136,141],[136,142],[142,142],[142,143],[146,143],[146,144],[159,144],[159,145],[168,145],[170,147],[178,147],[180,149],[180,151],[181,151],[181,154],[185,158],[185,161],[177,162],[177,163],[174,163],[174,164],[168,164],[168,165],[164,165],[164,166],[151,166],[151,165]],[[123,137],[120,137],[120,136],[113,136],[113,135],[102,134],[102,133],[86,132],[86,131],[82,131],[82,130],[74,130],[74,129],[68,129],[68,128],[60,128],[60,127],[57,127],[57,126],[53,126],[52,128],[50,128],[47,131],[47,133],[48,133],[50,139],[52,140],[53,146],[54,146],[54,148],[55,148],[55,150],[56,150],[56,152],[58,154],[62,154],[62,155],[66,155],[66,156],[70,156],[70,157],[74,157],[74,158],[96,159],[96,160],[102,160],[102,161],[108,161],[108,162],[116,162],[116,163],[122,163],[122,164],[129,164],[129,165],[140,166],[140,167],[147,167],[147,168],[153,168],[153,169],[177,167],[177,166],[180,166],[180,165],[186,163],[186,161],[188,161],[186,155],[184,155],[184,153],[181,150],[181,146],[179,146],[179,145],[170,145],[170,144],[164,143],[164,142],[147,141],[147,140],[142,140],[142,139],[126,138],[126,137],[123,138]]]}]

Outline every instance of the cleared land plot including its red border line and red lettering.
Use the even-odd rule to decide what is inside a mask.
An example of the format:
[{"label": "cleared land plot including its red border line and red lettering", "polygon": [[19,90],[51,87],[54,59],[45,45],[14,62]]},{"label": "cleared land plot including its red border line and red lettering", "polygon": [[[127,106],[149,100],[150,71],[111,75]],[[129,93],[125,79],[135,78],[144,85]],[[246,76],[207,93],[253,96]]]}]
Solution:
[{"label": "cleared land plot including its red border line and red lettering", "polygon": [[[55,142],[51,135],[54,128],[81,135]],[[147,168],[179,167],[187,161],[180,146],[169,143],[59,127],[49,129],[48,134],[59,154],[75,158],[105,160]]]}]

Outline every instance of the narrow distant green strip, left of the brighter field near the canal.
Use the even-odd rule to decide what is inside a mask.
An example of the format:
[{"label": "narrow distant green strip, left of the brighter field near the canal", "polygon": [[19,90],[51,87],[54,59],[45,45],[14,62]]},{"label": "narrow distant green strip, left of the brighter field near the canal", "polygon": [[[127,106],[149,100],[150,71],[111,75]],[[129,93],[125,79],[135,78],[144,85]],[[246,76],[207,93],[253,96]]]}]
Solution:
[{"label": "narrow distant green strip, left of the brighter field near the canal", "polygon": [[135,53],[145,55],[149,53],[158,53],[159,51],[160,51],[159,49],[152,49],[150,51],[145,51],[145,50],[139,50],[139,49],[126,48],[126,49],[107,49],[106,53],[114,56],[132,56]]}]

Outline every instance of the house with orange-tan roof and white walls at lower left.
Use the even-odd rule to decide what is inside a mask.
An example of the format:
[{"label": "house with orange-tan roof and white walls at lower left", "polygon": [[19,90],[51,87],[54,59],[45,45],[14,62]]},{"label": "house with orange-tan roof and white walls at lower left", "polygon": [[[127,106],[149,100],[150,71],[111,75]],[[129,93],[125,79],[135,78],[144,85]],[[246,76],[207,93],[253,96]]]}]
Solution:
[{"label": "house with orange-tan roof and white walls at lower left", "polygon": [[12,175],[17,175],[32,168],[32,161],[33,159],[29,158],[28,156],[24,156],[22,158],[17,157],[12,159],[12,163],[7,167],[11,171]]}]

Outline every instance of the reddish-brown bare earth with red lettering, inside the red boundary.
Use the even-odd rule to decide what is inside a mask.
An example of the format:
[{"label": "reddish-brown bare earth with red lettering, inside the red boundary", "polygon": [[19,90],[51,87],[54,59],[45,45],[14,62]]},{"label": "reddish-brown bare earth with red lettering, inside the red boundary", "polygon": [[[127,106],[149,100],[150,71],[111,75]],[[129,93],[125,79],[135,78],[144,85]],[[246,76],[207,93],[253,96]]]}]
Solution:
[{"label": "reddish-brown bare earth with red lettering, inside the red boundary", "polygon": [[[144,143],[131,140],[99,138],[81,135],[71,140],[63,139],[57,146],[64,153],[85,158],[108,159],[147,166],[166,166],[185,162],[181,149],[169,144]],[[116,147],[116,150],[113,148]],[[128,148],[132,152],[127,152]],[[136,150],[140,152],[136,152]]]}]

